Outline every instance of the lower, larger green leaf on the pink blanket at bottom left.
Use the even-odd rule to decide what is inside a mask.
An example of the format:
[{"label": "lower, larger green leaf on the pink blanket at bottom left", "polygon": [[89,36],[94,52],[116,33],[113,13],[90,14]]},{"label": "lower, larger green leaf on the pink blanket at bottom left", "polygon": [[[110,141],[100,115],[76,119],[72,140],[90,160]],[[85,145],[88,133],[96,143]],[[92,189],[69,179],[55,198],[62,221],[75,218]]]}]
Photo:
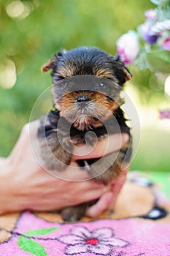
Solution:
[{"label": "lower, larger green leaf on the pink blanket at bottom left", "polygon": [[47,256],[47,252],[41,244],[23,236],[19,236],[18,246],[23,251],[30,252],[32,255]]}]

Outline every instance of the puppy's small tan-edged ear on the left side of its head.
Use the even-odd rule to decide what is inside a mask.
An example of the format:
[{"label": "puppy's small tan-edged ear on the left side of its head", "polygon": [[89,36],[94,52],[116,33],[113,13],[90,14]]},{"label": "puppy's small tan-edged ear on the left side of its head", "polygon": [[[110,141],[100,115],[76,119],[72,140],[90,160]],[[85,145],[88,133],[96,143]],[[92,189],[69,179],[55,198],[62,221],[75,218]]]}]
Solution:
[{"label": "puppy's small tan-edged ear on the left side of its head", "polygon": [[59,50],[57,53],[55,53],[52,59],[50,59],[44,65],[42,65],[41,71],[44,73],[50,69],[55,69],[57,67],[58,58],[63,56],[65,53],[65,49]]}]

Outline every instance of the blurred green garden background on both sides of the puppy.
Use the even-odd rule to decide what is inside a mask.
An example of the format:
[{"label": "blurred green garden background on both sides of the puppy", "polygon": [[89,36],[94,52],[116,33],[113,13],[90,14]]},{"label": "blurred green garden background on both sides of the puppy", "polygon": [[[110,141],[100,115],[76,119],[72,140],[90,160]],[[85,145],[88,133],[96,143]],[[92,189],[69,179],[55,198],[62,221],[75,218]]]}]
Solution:
[{"label": "blurred green garden background on both sides of the puppy", "polygon": [[[1,0],[0,156],[7,157],[37,97],[50,86],[50,73],[40,68],[56,50],[89,45],[114,55],[118,37],[136,29],[144,11],[154,7],[149,0]],[[170,120],[158,117],[170,100],[163,79],[148,69],[129,68],[134,78],[126,89],[141,121],[131,169],[169,171]]]}]

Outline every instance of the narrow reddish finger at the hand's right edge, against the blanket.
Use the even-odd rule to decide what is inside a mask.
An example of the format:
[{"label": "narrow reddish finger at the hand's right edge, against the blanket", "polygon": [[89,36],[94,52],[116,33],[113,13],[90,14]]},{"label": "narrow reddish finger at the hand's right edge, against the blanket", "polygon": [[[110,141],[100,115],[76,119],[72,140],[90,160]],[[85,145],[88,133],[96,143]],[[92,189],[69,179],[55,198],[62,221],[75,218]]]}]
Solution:
[{"label": "narrow reddish finger at the hand's right edge, against the blanket", "polygon": [[117,200],[117,197],[120,193],[120,190],[123,187],[123,184],[125,183],[125,178],[127,176],[128,173],[128,167],[123,171],[123,174],[120,176],[120,178],[117,179],[117,181],[115,181],[114,184],[112,184],[112,202],[109,205],[109,210],[113,211],[115,208],[115,203]]}]

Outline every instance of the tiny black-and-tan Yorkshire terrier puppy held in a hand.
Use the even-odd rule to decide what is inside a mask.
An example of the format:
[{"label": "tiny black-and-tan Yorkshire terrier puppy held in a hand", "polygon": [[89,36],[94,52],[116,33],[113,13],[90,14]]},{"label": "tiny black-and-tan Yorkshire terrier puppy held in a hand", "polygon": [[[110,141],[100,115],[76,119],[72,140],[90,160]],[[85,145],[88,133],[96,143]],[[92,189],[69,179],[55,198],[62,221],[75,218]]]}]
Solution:
[{"label": "tiny black-and-tan Yorkshire terrier puppy held in a hand", "polygon": [[[74,144],[93,145],[96,138],[102,140],[117,132],[127,132],[130,138],[130,128],[120,108],[123,104],[120,91],[125,81],[131,79],[131,73],[119,56],[98,48],[61,50],[42,66],[42,72],[50,69],[54,105],[47,117],[42,118],[38,131],[42,159],[49,170],[66,169],[72,160]],[[120,176],[123,163],[128,164],[130,141],[119,152],[77,162],[88,170],[91,178],[108,184]],[[62,217],[76,221],[88,206],[83,203],[64,208]]]}]

